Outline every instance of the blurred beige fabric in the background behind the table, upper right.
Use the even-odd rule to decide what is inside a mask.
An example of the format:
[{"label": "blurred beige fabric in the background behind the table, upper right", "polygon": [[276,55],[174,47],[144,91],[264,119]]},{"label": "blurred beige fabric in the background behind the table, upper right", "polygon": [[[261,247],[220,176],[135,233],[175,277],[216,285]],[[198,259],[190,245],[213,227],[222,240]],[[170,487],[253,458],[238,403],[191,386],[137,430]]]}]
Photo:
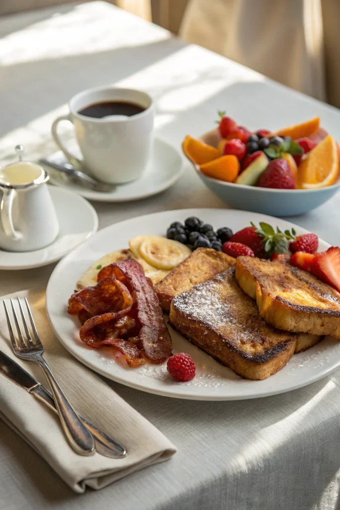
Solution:
[{"label": "blurred beige fabric in the background behind the table, upper right", "polygon": [[179,34],[340,107],[340,0],[190,0]]}]

